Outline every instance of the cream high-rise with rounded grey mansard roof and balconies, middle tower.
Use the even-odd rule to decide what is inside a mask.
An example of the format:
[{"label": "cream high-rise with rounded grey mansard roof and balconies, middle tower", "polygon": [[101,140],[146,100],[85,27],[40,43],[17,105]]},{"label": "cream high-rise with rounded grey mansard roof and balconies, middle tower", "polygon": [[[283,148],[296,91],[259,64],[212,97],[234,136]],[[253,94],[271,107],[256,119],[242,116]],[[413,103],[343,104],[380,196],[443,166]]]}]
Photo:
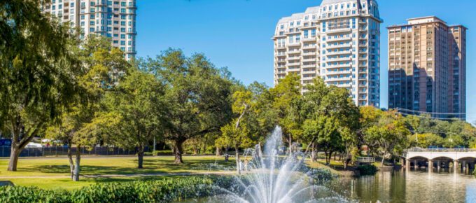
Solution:
[{"label": "cream high-rise with rounded grey mansard roof and balconies, middle tower", "polygon": [[274,83],[290,73],[306,84],[321,76],[358,106],[380,103],[379,6],[374,0],[323,0],[281,18],[274,34]]}]

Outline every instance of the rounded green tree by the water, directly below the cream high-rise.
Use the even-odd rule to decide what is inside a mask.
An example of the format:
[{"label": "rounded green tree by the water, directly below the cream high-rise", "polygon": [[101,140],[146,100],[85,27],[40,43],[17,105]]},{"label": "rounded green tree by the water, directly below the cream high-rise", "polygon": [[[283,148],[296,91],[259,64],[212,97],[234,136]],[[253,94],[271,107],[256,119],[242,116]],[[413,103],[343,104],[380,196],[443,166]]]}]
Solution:
[{"label": "rounded green tree by the water, directly below the cream high-rise", "polygon": [[[332,153],[344,154],[344,165],[351,161],[351,149],[356,145],[356,130],[358,130],[359,111],[349,98],[349,91],[344,88],[325,85],[321,78],[314,79],[314,83],[306,86],[302,112],[308,128],[303,141],[309,146],[319,147],[325,151],[326,161],[330,162]],[[321,126],[314,130],[320,136],[309,137],[309,127]],[[326,127],[335,125],[336,128]],[[316,134],[316,133],[314,133]],[[315,139],[317,138],[317,139]],[[314,148],[313,148],[314,150]],[[307,151],[307,150],[306,150]]]}]

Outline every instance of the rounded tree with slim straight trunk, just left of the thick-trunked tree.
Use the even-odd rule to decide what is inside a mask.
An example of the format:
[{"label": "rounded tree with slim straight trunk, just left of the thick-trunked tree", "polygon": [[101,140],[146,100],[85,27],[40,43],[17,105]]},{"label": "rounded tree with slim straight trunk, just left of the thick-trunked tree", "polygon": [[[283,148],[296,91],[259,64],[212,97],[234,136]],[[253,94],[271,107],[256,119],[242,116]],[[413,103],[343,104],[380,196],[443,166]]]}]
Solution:
[{"label": "rounded tree with slim straight trunk, just left of the thick-trunked tree", "polygon": [[108,128],[109,139],[116,146],[136,148],[141,169],[146,146],[164,131],[165,86],[153,74],[131,69],[118,89],[107,94],[104,102],[106,115],[118,116],[117,122],[111,122],[116,123],[113,129]]}]

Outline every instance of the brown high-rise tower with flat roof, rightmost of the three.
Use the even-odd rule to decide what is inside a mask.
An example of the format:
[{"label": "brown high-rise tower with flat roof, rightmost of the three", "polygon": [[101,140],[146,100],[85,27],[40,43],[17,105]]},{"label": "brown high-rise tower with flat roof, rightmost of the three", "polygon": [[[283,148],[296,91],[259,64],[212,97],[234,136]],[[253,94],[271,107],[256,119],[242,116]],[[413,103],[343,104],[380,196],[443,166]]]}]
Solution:
[{"label": "brown high-rise tower with flat roof, rightmost of the three", "polygon": [[466,28],[436,17],[388,27],[388,108],[465,119]]}]

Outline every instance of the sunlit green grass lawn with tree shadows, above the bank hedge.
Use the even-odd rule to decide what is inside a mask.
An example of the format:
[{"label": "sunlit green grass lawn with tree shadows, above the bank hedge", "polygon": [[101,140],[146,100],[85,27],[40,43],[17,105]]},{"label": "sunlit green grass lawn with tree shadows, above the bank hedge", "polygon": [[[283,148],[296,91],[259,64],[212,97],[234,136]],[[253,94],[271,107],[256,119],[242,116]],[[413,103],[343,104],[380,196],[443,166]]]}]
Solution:
[{"label": "sunlit green grass lawn with tree shadows, above the bank hedge", "polygon": [[[159,156],[145,157],[144,169],[137,169],[135,157],[101,157],[82,158],[81,175],[132,175],[132,174],[168,174],[217,172],[230,168],[235,161],[230,158],[215,156],[184,156],[183,165],[175,165],[174,157]],[[18,186],[38,186],[47,189],[71,190],[90,185],[92,183],[137,181],[150,179],[165,179],[166,176],[147,177],[111,177],[111,178],[84,178],[73,182],[69,176],[69,162],[67,158],[20,158],[18,172],[6,171],[8,159],[0,159],[0,181],[12,181]]]}]

